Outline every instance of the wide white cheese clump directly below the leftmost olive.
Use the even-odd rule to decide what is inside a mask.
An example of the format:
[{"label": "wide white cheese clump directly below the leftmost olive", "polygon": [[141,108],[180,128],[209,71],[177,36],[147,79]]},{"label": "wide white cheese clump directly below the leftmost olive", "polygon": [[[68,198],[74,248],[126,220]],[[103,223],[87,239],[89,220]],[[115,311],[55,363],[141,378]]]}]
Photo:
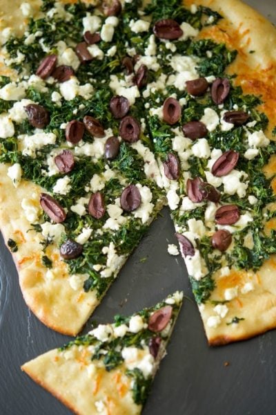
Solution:
[{"label": "wide white cheese clump directly below the leftmost olive", "polygon": [[53,133],[34,133],[32,136],[22,134],[18,136],[20,141],[20,149],[24,156],[35,156],[35,151],[41,149],[45,145],[55,144],[57,137]]}]

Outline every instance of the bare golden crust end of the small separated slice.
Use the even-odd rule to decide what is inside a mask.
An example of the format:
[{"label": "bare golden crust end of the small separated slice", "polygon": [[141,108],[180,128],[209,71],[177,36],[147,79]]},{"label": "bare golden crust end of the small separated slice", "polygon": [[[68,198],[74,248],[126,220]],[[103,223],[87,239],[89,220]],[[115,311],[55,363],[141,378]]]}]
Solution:
[{"label": "bare golden crust end of the small separated slice", "polygon": [[75,414],[97,414],[95,403],[99,402],[106,407],[104,413],[141,414],[141,405],[132,399],[131,378],[124,374],[124,365],[108,372],[95,362],[96,369],[91,375],[90,355],[87,347],[81,351],[72,347],[62,353],[55,349],[30,360],[21,369]]}]

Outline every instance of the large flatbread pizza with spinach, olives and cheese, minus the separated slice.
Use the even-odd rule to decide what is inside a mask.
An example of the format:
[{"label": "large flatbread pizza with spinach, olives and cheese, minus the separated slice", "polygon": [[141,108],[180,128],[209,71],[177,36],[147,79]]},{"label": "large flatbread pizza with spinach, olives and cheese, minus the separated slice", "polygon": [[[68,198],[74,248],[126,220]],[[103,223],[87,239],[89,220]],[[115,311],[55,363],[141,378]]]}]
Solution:
[{"label": "large flatbread pizza with spinach, olives and cheese, minus the separated slice", "polygon": [[79,332],[168,203],[209,344],[273,329],[275,28],[236,0],[26,4],[0,215],[32,311]]}]

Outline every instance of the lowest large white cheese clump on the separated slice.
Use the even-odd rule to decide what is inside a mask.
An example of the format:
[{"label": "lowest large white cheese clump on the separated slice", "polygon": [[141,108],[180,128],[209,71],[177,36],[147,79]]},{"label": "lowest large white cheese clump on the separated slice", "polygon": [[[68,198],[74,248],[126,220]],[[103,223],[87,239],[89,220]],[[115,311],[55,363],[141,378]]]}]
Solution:
[{"label": "lowest large white cheese clump on the separated slice", "polygon": [[132,370],[137,367],[143,373],[145,378],[148,378],[155,367],[155,359],[150,354],[148,347],[146,349],[137,349],[137,347],[124,347],[121,351],[121,356],[125,361],[128,369]]}]

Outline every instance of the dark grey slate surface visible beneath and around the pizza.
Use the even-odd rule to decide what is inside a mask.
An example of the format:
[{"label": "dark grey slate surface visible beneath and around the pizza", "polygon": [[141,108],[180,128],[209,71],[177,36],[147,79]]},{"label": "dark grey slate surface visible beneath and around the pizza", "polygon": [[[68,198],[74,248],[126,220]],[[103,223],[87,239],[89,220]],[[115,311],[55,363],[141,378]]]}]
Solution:
[{"label": "dark grey slate surface visible beneath and around the pizza", "polygon": [[[247,3],[276,22],[275,0]],[[175,237],[168,210],[163,213],[93,320],[109,322],[117,313],[134,313],[176,289],[192,297],[182,259],[167,254],[168,242],[175,243]],[[61,346],[69,338],[47,329],[30,313],[2,239],[0,252],[0,415],[69,415],[66,407],[20,371],[23,362]],[[139,259],[146,256],[148,260],[141,263]],[[84,331],[88,329],[89,323]],[[224,362],[229,362],[228,367]],[[186,299],[143,414],[274,415],[275,387],[276,331],[211,349],[197,307]]]}]

